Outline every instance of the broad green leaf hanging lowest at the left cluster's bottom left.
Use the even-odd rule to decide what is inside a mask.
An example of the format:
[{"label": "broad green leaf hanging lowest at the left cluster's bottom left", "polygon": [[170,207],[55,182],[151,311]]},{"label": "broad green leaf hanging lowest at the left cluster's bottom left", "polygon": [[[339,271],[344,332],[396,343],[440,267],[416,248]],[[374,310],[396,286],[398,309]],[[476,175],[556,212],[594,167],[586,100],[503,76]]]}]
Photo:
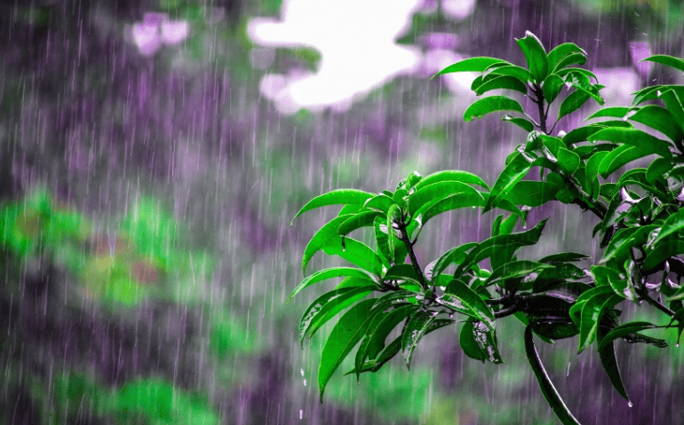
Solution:
[{"label": "broad green leaf hanging lowest at the left cluster's bottom left", "polygon": [[376,299],[364,300],[357,303],[346,311],[338,324],[333,327],[328,341],[325,342],[321,353],[321,365],[318,368],[318,389],[321,403],[323,402],[323,391],[330,381],[330,377],[342,364],[354,346],[361,340],[366,332],[366,327],[370,325],[370,309]]}]

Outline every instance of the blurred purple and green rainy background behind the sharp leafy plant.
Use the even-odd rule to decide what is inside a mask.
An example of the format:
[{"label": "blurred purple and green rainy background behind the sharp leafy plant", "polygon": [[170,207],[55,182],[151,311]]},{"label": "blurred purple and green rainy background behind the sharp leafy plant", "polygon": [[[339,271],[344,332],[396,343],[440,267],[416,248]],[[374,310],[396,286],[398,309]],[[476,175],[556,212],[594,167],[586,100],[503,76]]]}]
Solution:
[{"label": "blurred purple and green rainy background behind the sharp leafy plant", "polygon": [[[512,47],[526,30],[547,49],[585,48],[585,67],[608,78],[608,105],[646,83],[681,82],[661,67],[641,72],[630,46],[684,57],[682,4],[477,0],[458,15],[448,0],[416,3],[397,37],[422,55],[415,72],[346,109],[282,114],[264,77],[315,73],[325,54],[251,38],[251,20],[282,17],[279,0],[0,2],[4,423],[555,423],[513,319],[499,331],[504,365],[464,358],[459,324],[428,336],[410,372],[393,361],[358,384],[333,377],[319,405],[312,381],[330,327],[300,350],[298,319],[317,292],[284,301],[302,279],[306,241],[333,211],[290,219],[317,194],[380,192],[412,170],[464,169],[493,183],[526,135],[489,116],[466,124],[469,83],[428,77],[467,56],[524,63]],[[143,50],[134,28],[150,12],[187,35],[150,35]],[[447,63],[431,62],[435,52]],[[421,262],[486,238],[494,216],[435,218]],[[600,257],[587,232],[595,218],[557,204],[528,223],[545,216],[542,242],[521,257]],[[316,256],[312,270],[332,264]],[[624,319],[662,321],[624,308]],[[596,353],[577,356],[573,341],[539,349],[582,423],[681,423],[684,356],[671,336],[665,350],[617,344],[631,409]]]}]

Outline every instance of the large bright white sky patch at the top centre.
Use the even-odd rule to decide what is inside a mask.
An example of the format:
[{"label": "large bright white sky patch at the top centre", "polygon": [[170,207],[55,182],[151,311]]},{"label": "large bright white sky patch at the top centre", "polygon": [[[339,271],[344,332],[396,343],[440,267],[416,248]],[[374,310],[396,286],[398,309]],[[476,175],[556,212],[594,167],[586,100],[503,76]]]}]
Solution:
[{"label": "large bright white sky patch at the top centre", "polygon": [[[272,47],[311,46],[321,52],[318,72],[286,77],[274,96],[286,114],[300,107],[344,110],[355,98],[381,87],[396,75],[414,71],[418,48],[394,43],[410,28],[419,0],[290,0],[282,21],[255,18],[248,25],[254,43]],[[273,77],[266,75],[266,80]],[[282,80],[279,80],[282,83]],[[266,81],[262,86],[273,90]],[[273,95],[263,92],[266,97]]]}]

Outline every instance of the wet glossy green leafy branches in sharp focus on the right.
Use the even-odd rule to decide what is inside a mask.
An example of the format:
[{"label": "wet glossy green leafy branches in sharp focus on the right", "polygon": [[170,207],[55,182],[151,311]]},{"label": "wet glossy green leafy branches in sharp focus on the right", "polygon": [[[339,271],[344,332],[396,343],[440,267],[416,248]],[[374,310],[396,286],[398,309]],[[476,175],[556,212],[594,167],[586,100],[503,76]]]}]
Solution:
[{"label": "wet glossy green leafy branches in sharp focus on the right", "polygon": [[[514,316],[526,327],[525,347],[553,412],[564,424],[577,423],[553,387],[537,355],[533,334],[545,342],[577,336],[578,352],[596,342],[600,360],[618,393],[629,401],[619,373],[613,342],[667,344],[640,332],[674,328],[684,330],[684,86],[656,85],[633,93],[632,106],[605,107],[587,120],[608,117],[568,133],[552,136],[563,116],[589,99],[603,105],[598,83],[585,64],[586,52],[574,43],[562,43],[546,53],[537,37],[527,33],[517,40],[527,67],[495,58],[470,58],[442,69],[442,75],[478,72],[472,89],[518,92],[537,106],[537,120],[508,96],[475,101],[465,121],[498,111],[512,111],[502,121],[528,132],[505,160],[505,169],[489,187],[480,177],[459,170],[444,170],[422,177],[412,172],[394,192],[367,193],[338,189],[315,197],[297,216],[320,207],[341,205],[338,216],[314,234],[306,246],[302,270],[316,252],[344,258],[354,267],[314,272],[291,295],[326,279],[344,278],[332,291],[319,296],[306,309],[299,324],[306,334],[318,329],[341,311],[322,349],[318,374],[320,397],[342,361],[359,344],[354,368],[346,374],[376,372],[401,352],[407,367],[421,339],[464,317],[459,342],[465,354],[484,362],[503,363],[497,342],[497,319]],[[684,60],[666,55],[644,59],[684,72]],[[433,77],[434,77],[433,76]],[[547,127],[551,104],[565,87],[555,122]],[[645,105],[648,100],[660,104]],[[634,123],[648,130],[640,130]],[[654,136],[653,133],[662,136]],[[627,169],[632,161],[652,158],[648,168]],[[526,178],[531,169],[538,179]],[[600,218],[593,237],[605,248],[599,264],[577,265],[584,254],[560,252],[537,260],[519,259],[516,252],[540,240],[547,219],[524,232],[530,209],[560,201],[590,210]],[[474,208],[486,213],[501,209],[491,236],[469,242],[422,267],[414,251],[428,220],[441,213]],[[370,227],[371,248],[349,233]],[[489,260],[492,270],[480,266]],[[453,270],[451,274],[448,271]],[[657,279],[656,279],[657,278]],[[657,296],[652,295],[657,293]],[[375,295],[375,296],[374,296]],[[288,302],[290,301],[288,300]],[[658,301],[664,300],[664,301]],[[619,303],[646,301],[667,315],[664,325],[647,322],[621,324]],[[666,304],[666,305],[665,305]],[[387,341],[401,325],[401,334]],[[631,402],[630,402],[631,403]]]}]

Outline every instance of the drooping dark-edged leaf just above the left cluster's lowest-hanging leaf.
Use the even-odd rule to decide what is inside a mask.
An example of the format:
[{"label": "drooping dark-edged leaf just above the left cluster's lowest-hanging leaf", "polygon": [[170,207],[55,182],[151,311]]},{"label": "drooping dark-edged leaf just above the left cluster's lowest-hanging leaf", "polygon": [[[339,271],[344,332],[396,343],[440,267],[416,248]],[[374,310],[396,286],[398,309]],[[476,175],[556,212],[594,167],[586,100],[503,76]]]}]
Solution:
[{"label": "drooping dark-edged leaf just above the left cluster's lowest-hanging leaf", "polygon": [[338,312],[369,295],[376,288],[374,286],[346,287],[334,289],[316,298],[314,303],[306,308],[302,319],[299,320],[299,343],[302,349],[304,349],[306,334],[309,334],[309,338],[314,336],[316,330],[335,317]]}]

